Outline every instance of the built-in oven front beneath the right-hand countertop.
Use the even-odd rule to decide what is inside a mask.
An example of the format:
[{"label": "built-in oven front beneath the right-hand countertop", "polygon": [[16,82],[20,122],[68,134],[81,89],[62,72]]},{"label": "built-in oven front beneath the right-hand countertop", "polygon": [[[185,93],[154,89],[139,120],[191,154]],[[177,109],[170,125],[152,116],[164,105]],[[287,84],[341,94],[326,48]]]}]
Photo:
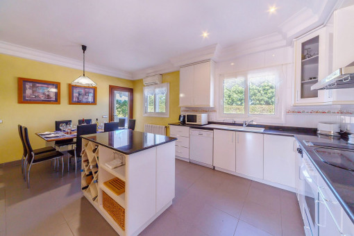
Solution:
[{"label": "built-in oven front beneath the right-hand countertop", "polygon": [[305,213],[304,224],[306,236],[317,236],[319,228],[317,219],[318,202],[318,175],[316,169],[306,154],[303,155],[303,165],[301,167],[301,177],[303,181],[303,212]]}]

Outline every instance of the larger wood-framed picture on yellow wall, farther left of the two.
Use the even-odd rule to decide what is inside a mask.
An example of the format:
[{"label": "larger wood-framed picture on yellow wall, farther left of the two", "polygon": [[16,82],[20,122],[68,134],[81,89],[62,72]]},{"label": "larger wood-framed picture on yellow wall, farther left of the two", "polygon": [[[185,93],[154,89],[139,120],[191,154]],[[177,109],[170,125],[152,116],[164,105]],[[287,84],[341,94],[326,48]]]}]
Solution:
[{"label": "larger wood-framed picture on yellow wall, farther left of the two", "polygon": [[18,78],[18,103],[60,104],[60,83]]}]

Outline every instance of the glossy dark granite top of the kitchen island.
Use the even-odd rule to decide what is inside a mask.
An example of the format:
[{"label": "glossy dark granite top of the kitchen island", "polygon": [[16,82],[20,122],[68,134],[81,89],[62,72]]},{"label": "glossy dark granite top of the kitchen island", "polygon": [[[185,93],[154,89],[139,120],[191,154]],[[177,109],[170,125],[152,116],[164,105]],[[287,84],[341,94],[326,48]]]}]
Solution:
[{"label": "glossy dark granite top of the kitchen island", "polygon": [[120,153],[124,153],[126,155],[177,140],[175,137],[155,135],[153,133],[143,133],[128,129],[105,133],[94,133],[92,135],[82,135],[81,137],[85,140],[95,142],[96,144],[101,144],[109,149],[119,151]]}]

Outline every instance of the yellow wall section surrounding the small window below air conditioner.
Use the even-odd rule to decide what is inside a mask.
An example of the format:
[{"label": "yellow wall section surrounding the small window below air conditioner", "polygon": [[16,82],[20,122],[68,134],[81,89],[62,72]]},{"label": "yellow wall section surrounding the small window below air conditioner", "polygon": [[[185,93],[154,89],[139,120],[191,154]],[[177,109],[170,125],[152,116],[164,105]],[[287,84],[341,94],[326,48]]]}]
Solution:
[{"label": "yellow wall section surrounding the small window below air conditioner", "polygon": [[[162,75],[162,83],[169,83],[169,117],[144,117],[143,114],[143,92],[144,84],[142,79],[134,81],[133,117],[136,119],[135,130],[144,131],[144,124],[165,125],[178,121],[180,115],[179,93],[180,93],[180,72],[175,71]],[[169,135],[169,128],[167,128]]]}]

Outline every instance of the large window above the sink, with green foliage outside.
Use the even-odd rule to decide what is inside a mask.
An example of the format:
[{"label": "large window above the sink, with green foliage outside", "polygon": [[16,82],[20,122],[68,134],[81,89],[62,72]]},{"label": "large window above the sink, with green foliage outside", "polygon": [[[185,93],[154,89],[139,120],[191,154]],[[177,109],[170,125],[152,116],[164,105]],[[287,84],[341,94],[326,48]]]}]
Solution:
[{"label": "large window above the sink, with green foliage outside", "polygon": [[222,75],[220,81],[222,117],[281,118],[278,67]]}]

